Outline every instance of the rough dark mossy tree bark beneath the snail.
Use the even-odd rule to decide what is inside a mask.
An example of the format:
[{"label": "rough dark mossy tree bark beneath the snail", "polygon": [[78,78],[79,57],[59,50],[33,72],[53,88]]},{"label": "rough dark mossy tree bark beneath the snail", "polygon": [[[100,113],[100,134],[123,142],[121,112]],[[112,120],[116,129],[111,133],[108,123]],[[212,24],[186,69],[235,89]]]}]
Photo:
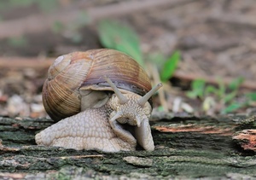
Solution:
[{"label": "rough dark mossy tree bark beneath the snail", "polygon": [[236,131],[255,129],[254,117],[152,119],[153,152],[102,153],[37,146],[34,135],[51,119],[0,117],[0,178],[256,177],[254,151],[232,140]]}]

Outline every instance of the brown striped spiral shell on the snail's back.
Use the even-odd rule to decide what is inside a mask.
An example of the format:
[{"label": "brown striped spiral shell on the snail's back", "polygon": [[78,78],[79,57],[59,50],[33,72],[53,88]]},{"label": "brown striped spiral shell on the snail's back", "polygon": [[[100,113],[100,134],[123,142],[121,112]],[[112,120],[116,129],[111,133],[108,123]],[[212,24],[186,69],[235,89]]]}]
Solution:
[{"label": "brown striped spiral shell on the snail's back", "polygon": [[58,121],[81,111],[79,90],[112,90],[104,76],[119,88],[141,96],[151,90],[147,73],[137,61],[113,49],[92,49],[61,55],[49,67],[43,102],[50,118]]}]

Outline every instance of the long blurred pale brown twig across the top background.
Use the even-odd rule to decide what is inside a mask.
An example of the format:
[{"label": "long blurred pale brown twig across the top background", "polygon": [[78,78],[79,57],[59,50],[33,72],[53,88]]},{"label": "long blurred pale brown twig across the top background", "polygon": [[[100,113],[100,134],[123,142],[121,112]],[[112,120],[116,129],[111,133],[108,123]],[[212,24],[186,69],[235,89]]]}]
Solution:
[{"label": "long blurred pale brown twig across the top background", "polygon": [[31,15],[16,20],[3,21],[0,24],[0,39],[21,36],[26,33],[44,32],[50,29],[56,21],[64,25],[70,24],[74,20],[81,18],[84,10],[87,12],[90,20],[96,21],[109,17],[132,14],[136,11],[151,8],[177,6],[191,1],[192,0],[127,1],[125,3],[115,3],[92,8],[83,7],[79,2],[75,4],[79,10],[74,10],[73,7],[72,9],[56,9],[55,13],[50,15]]}]

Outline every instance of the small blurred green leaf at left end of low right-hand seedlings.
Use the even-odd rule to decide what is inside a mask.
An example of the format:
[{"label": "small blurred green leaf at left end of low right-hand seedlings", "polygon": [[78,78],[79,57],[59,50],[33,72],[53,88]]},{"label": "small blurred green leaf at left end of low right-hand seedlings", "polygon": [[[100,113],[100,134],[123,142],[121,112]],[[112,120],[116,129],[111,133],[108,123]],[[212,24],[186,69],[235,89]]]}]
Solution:
[{"label": "small blurred green leaf at left end of low right-hand seedlings", "polygon": [[204,90],[205,90],[206,81],[204,79],[196,79],[192,82],[191,88],[189,92],[187,92],[187,96],[190,98],[196,98],[199,96],[200,98],[203,98],[204,96]]}]

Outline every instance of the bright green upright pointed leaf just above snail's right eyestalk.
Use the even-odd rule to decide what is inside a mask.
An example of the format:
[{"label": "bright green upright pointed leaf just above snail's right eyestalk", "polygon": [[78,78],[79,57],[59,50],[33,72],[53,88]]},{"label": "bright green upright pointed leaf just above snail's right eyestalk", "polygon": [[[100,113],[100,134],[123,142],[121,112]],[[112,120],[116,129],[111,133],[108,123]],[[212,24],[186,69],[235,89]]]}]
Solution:
[{"label": "bright green upright pointed leaf just above snail's right eyestalk", "polygon": [[169,78],[172,77],[172,74],[177,68],[177,63],[180,60],[179,51],[175,51],[172,56],[165,62],[162,70],[160,72],[160,78],[163,82],[166,82]]}]

